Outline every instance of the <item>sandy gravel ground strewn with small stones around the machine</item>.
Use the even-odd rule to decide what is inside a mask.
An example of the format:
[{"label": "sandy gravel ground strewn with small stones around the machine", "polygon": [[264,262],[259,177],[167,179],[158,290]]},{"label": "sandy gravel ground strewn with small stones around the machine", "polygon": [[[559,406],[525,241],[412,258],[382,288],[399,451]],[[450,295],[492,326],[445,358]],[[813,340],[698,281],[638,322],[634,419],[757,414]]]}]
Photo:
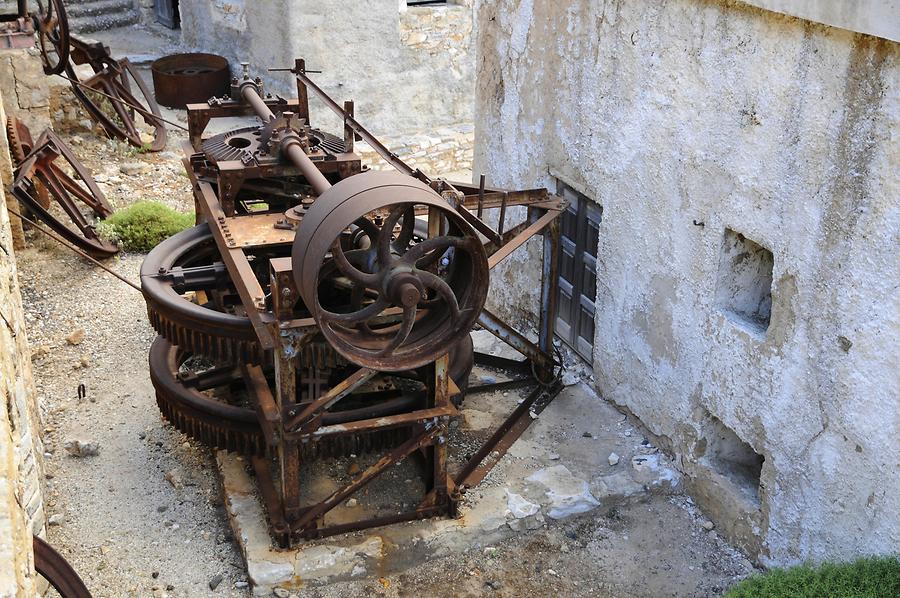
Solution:
[{"label": "sandy gravel ground strewn with small stones around the machine", "polygon": [[[141,199],[192,207],[177,149],[182,135],[172,134],[158,154],[86,130],[64,138],[116,208]],[[50,542],[98,598],[249,595],[211,452],[156,408],[146,363],[154,332],[143,299],[69,250],[33,231],[29,238],[17,257],[44,416]],[[121,255],[108,265],[137,283],[142,259]],[[65,446],[75,440],[96,444],[98,453],[72,456]],[[752,566],[701,521],[685,498],[653,496],[551,522],[497,549],[425,562],[396,555],[409,560],[406,573],[300,593],[718,595]]]}]

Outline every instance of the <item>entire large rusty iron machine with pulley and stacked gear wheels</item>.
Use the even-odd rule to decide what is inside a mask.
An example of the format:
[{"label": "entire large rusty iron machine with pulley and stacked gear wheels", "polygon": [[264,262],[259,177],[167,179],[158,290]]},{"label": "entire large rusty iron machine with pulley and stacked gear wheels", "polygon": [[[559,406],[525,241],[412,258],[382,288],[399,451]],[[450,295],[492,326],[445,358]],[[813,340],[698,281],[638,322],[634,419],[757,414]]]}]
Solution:
[{"label": "entire large rusty iron machine with pulley and stacked gear wheels", "polygon": [[[545,189],[432,180],[363,128],[352,102],[326,95],[303,60],[289,70],[295,99],[266,93],[244,65],[230,94],[187,106],[184,164],[199,224],[141,268],[159,333],[150,372],[162,413],[185,434],[249,457],[282,547],[455,515],[461,493],[559,392],[552,314],[564,209]],[[342,120],[341,135],[310,125],[310,95]],[[260,122],[205,134],[213,119],[238,116]],[[395,172],[364,167],[356,141]],[[523,221],[505,226],[508,210]],[[486,211],[499,212],[497,229]],[[484,304],[491,269],[536,236],[546,259],[535,343]],[[476,327],[525,358],[474,352]],[[473,363],[516,375],[469,387]],[[449,424],[465,393],[512,388],[531,391],[480,449],[452,463]],[[309,499],[305,466],[362,454],[370,465]],[[332,517],[407,458],[423,489],[412,508]]]}]

